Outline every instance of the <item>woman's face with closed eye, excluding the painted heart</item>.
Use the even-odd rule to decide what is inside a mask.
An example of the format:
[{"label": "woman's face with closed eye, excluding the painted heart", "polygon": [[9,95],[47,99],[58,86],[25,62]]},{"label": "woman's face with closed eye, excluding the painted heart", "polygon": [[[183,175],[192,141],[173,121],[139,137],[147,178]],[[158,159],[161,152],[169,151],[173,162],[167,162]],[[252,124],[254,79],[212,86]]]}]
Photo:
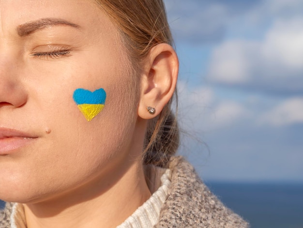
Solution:
[{"label": "woman's face with closed eye, excluding the painted heart", "polygon": [[[2,199],[38,201],[126,165],[136,146],[129,68],[117,29],[93,2],[0,0]],[[78,88],[106,91],[91,121],[73,99]]]}]

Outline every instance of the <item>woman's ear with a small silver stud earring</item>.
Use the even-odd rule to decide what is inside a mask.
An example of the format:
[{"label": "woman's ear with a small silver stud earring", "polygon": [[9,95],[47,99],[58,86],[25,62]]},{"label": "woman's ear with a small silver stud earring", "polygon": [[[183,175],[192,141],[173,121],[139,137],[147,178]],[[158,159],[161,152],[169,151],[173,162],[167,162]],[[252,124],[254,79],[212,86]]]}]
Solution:
[{"label": "woman's ear with a small silver stud earring", "polygon": [[[150,50],[141,78],[139,117],[152,119],[161,113],[175,91],[178,70],[178,57],[170,45],[158,44]],[[154,108],[155,113],[150,114],[147,107]]]}]

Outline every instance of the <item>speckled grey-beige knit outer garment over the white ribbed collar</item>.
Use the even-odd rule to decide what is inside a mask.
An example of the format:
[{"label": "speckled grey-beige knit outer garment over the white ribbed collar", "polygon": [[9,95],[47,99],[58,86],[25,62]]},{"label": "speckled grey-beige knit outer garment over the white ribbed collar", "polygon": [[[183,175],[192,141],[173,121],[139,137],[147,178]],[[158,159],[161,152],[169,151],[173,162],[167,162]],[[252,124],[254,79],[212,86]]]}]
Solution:
[{"label": "speckled grey-beige knit outer garment over the white ribbed collar", "polygon": [[[220,202],[182,157],[169,163],[171,185],[155,228],[248,228]],[[0,212],[0,228],[10,228],[12,203]]]}]

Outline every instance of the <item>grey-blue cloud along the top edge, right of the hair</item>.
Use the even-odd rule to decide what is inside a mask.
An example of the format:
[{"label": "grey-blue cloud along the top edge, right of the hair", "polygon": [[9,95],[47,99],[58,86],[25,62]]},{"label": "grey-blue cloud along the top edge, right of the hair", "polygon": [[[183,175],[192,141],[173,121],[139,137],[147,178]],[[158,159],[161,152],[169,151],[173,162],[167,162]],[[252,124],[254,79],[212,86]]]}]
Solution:
[{"label": "grey-blue cloud along the top edge, right of the hair", "polygon": [[[217,43],[224,39],[234,18],[241,17],[244,28],[268,23],[272,19],[301,16],[302,0],[164,0],[168,21],[177,40],[188,43]],[[248,30],[247,30],[248,29]]]}]

